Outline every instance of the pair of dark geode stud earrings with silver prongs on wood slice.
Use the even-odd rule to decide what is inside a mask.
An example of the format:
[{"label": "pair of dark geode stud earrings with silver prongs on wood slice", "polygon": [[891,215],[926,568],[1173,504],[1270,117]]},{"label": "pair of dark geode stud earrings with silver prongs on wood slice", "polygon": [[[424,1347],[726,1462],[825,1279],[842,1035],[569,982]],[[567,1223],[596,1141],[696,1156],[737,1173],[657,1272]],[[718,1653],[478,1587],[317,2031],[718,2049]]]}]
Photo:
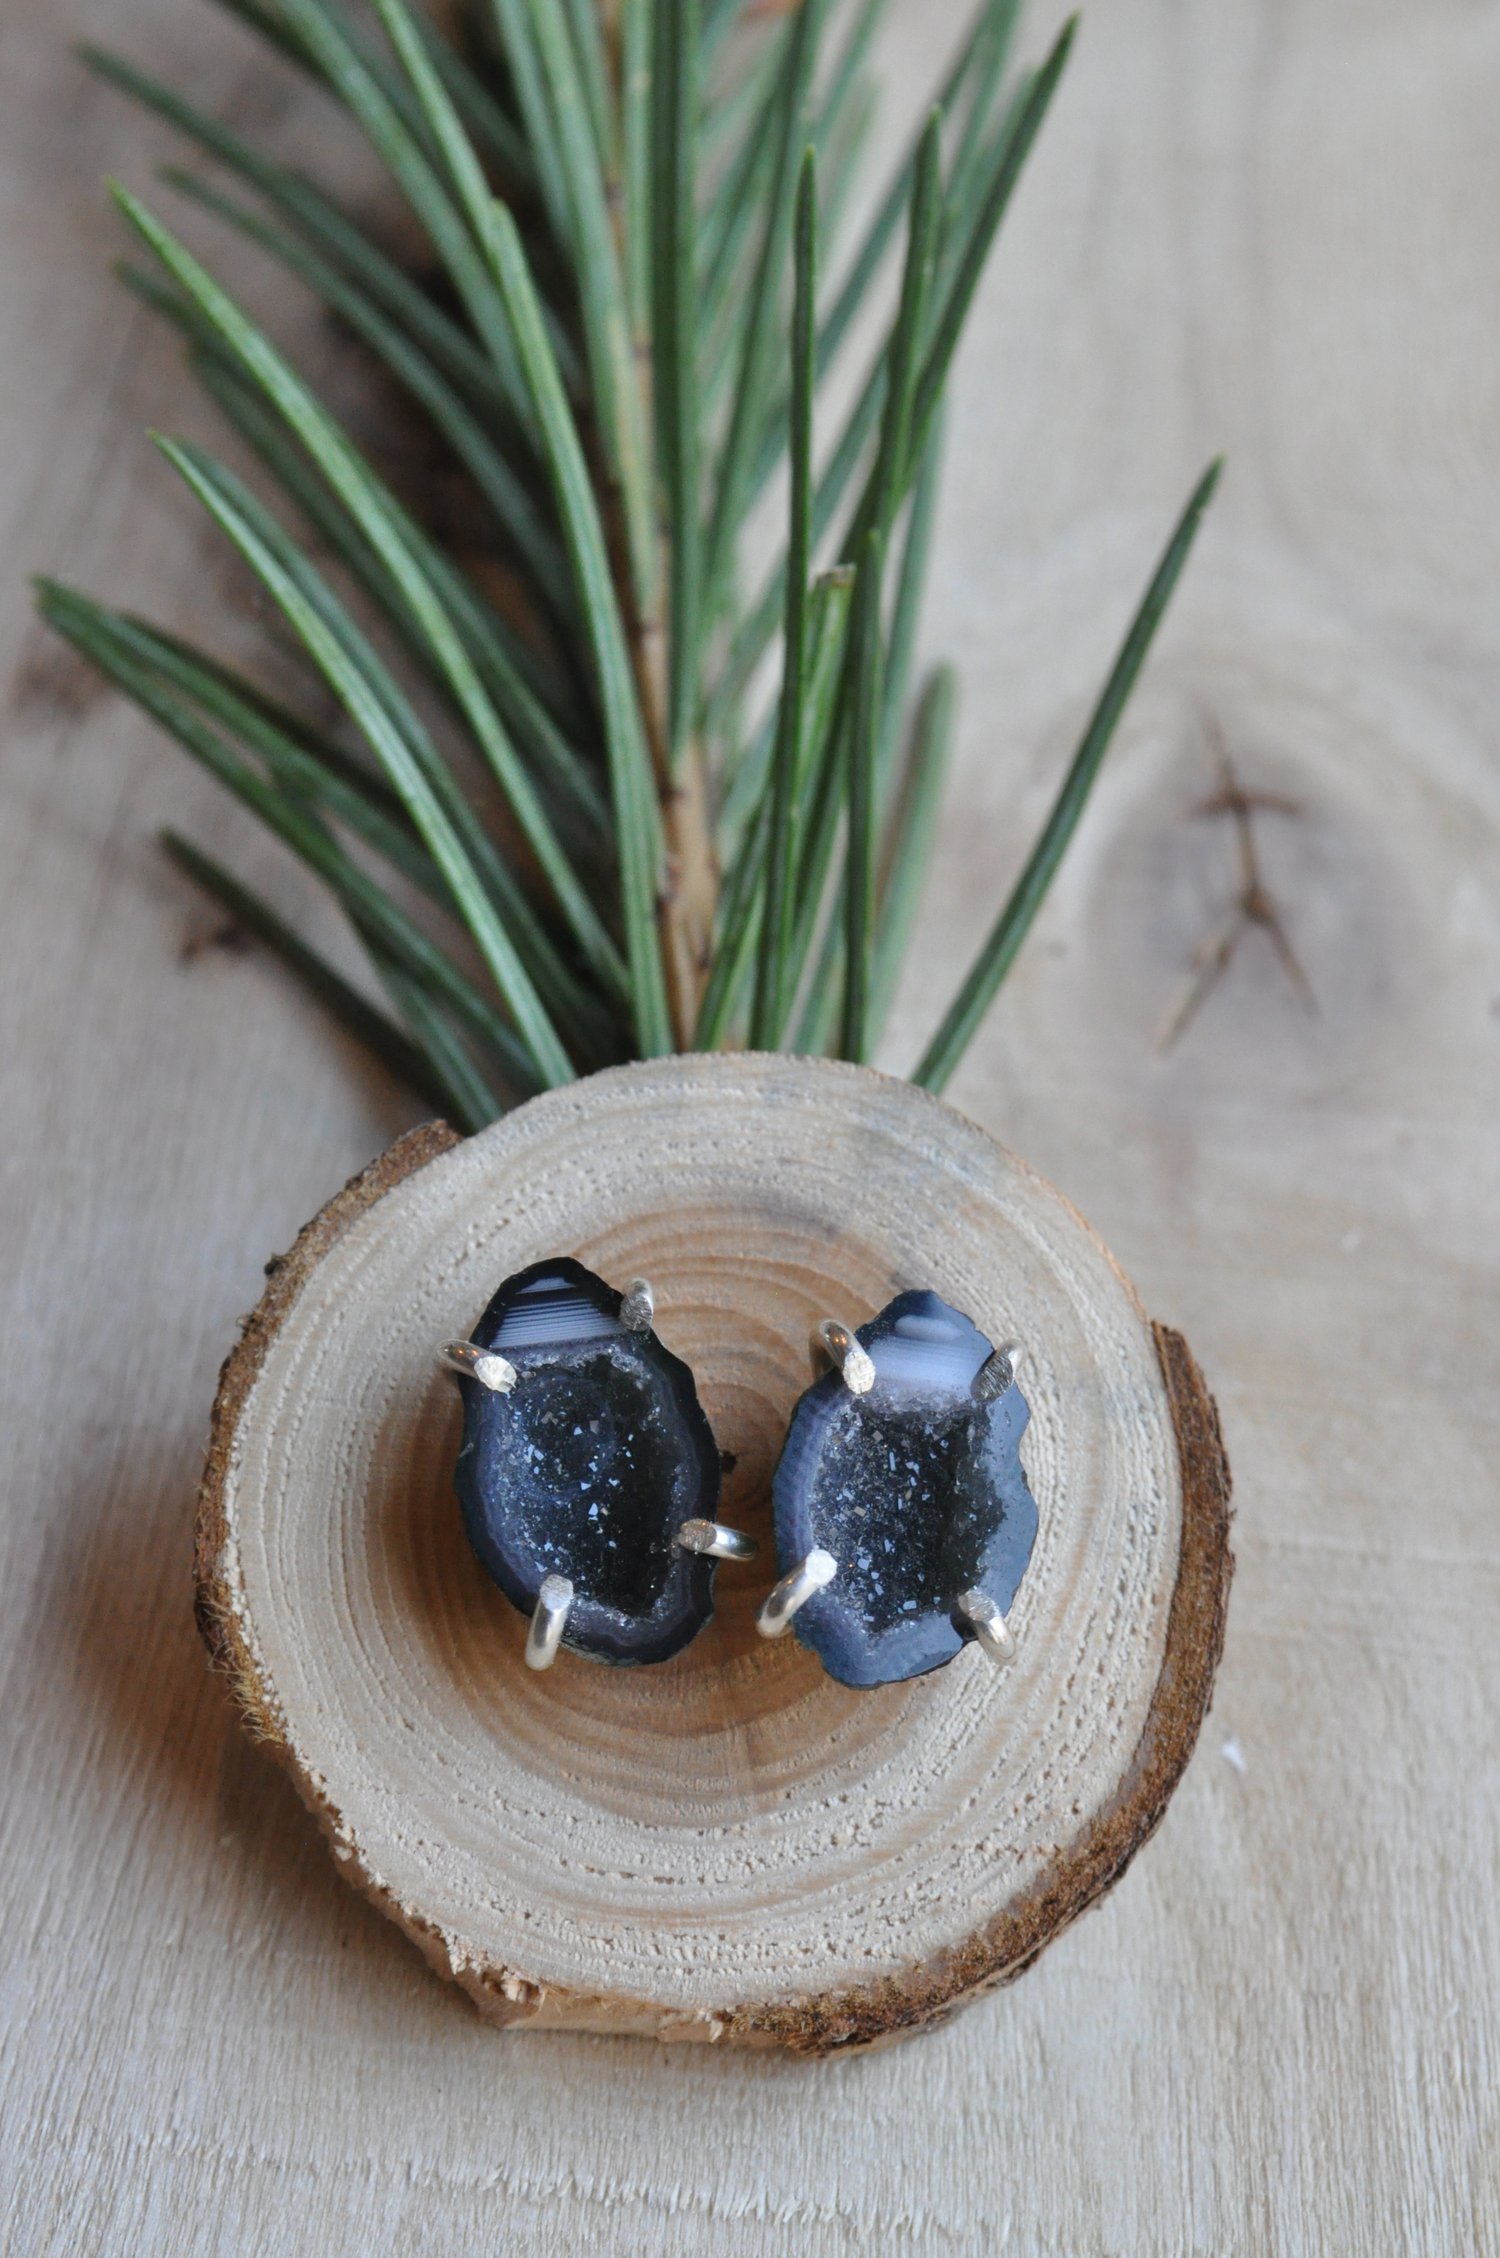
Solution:
[{"label": "pair of dark geode stud earrings with silver prongs on wood slice", "polygon": [[[653,1319],[644,1278],[619,1294],[556,1258],[441,1350],[463,1393],[463,1526],[531,1619],[533,1669],[562,1646],[666,1662],[712,1617],[718,1563],[757,1554],[716,1517],[718,1445]],[[919,1678],[967,1644],[1014,1657],[1005,1614],[1037,1535],[1017,1355],[931,1292],[816,1328],[820,1375],[775,1472],[764,1637],[791,1628],[849,1687]]]}]

